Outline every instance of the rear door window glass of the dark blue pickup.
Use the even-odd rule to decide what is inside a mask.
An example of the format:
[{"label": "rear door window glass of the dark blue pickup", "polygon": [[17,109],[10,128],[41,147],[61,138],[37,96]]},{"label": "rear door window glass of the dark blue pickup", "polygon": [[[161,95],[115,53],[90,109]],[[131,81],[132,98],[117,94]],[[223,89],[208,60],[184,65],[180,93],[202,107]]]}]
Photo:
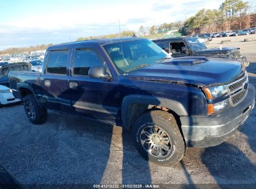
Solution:
[{"label": "rear door window glass of the dark blue pickup", "polygon": [[47,62],[47,73],[66,74],[68,50],[52,50]]}]

